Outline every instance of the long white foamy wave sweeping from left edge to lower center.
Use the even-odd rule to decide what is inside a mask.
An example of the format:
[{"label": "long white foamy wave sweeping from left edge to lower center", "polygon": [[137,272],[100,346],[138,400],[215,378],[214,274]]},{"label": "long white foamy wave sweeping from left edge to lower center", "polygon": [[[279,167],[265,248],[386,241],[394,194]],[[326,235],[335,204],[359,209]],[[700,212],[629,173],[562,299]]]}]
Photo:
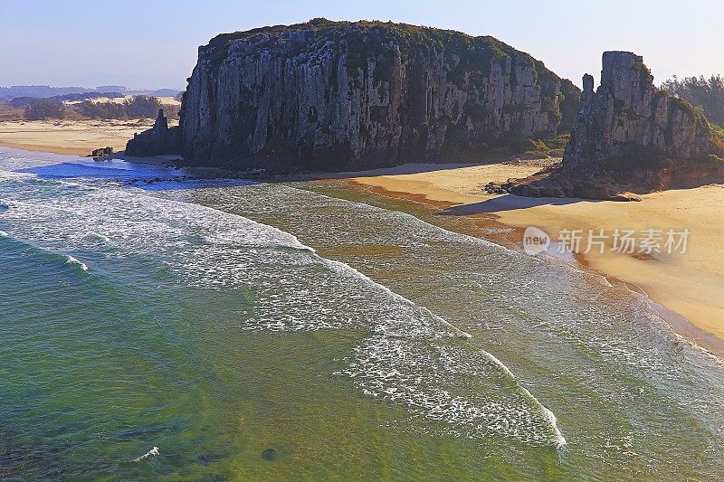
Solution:
[{"label": "long white foamy wave sweeping from left edge to lower center", "polygon": [[[505,365],[471,345],[470,334],[289,232],[168,199],[174,194],[116,186],[48,198],[46,186],[23,185],[15,195],[4,221],[24,239],[77,252],[89,246],[87,233],[103,232],[120,256],[159,260],[187,286],[252,293],[242,329],[366,331],[338,374],[372,397],[404,404],[417,420],[442,422],[440,430],[463,437],[563,443],[555,417]],[[66,262],[87,269],[71,256]]]}]

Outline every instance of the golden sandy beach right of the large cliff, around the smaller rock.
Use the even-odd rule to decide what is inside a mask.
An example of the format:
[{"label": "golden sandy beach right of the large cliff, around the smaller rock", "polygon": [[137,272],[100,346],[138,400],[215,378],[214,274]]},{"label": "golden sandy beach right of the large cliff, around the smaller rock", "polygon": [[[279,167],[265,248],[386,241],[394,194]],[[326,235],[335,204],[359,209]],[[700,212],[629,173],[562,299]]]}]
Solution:
[{"label": "golden sandy beach right of the large cliff, around the smaller rock", "polygon": [[[411,168],[411,166],[413,168]],[[519,228],[513,248],[522,249],[522,232],[536,226],[555,241],[561,231],[581,230],[576,259],[591,269],[635,285],[662,307],[672,310],[711,335],[724,338],[724,186],[666,191],[643,196],[641,203],[593,202],[575,199],[523,198],[485,194],[483,186],[510,177],[538,171],[537,165],[419,165],[361,173],[353,183],[376,189],[376,193],[446,208],[448,213],[483,217]],[[647,230],[661,232],[662,252],[614,251],[614,232],[633,230],[638,241]],[[666,232],[688,229],[686,251],[664,248]],[[600,234],[604,247],[587,250],[587,234]],[[565,236],[565,234],[564,234]],[[679,241],[679,238],[676,241]],[[498,239],[493,241],[500,241]],[[603,251],[603,252],[601,252]],[[636,288],[638,287],[638,288]],[[666,311],[666,310],[664,310]],[[686,331],[686,330],[684,330]],[[696,336],[694,336],[696,337]]]}]

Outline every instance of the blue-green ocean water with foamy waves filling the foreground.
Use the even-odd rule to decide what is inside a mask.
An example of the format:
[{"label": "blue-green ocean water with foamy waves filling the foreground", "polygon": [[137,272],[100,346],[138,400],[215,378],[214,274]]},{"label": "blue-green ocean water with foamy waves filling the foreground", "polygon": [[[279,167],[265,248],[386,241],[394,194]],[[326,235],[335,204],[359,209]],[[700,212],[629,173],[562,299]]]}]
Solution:
[{"label": "blue-green ocean water with foamy waves filling the foreground", "polygon": [[642,298],[184,175],[0,148],[0,478],[724,477],[724,364]]}]

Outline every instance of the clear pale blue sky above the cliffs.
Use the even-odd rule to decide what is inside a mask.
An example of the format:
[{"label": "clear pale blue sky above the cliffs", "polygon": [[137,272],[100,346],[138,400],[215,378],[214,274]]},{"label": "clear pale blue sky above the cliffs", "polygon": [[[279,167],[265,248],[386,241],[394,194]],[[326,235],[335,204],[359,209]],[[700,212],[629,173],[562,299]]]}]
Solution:
[{"label": "clear pale blue sky above the cliffs", "polygon": [[656,81],[724,74],[722,0],[0,0],[0,86],[184,89],[215,34],[318,16],[490,34],[577,85],[605,50],[643,55]]}]

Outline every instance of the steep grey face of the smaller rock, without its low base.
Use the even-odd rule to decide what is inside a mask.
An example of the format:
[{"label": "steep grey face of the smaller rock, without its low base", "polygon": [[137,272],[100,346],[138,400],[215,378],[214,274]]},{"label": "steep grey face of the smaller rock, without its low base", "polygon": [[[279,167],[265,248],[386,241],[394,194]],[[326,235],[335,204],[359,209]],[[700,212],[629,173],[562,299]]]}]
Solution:
[{"label": "steep grey face of the smaller rock, without its low base", "polygon": [[643,58],[604,52],[601,85],[586,74],[576,127],[566,147],[567,168],[602,165],[656,168],[663,159],[721,154],[709,122],[691,104],[653,87]]}]

